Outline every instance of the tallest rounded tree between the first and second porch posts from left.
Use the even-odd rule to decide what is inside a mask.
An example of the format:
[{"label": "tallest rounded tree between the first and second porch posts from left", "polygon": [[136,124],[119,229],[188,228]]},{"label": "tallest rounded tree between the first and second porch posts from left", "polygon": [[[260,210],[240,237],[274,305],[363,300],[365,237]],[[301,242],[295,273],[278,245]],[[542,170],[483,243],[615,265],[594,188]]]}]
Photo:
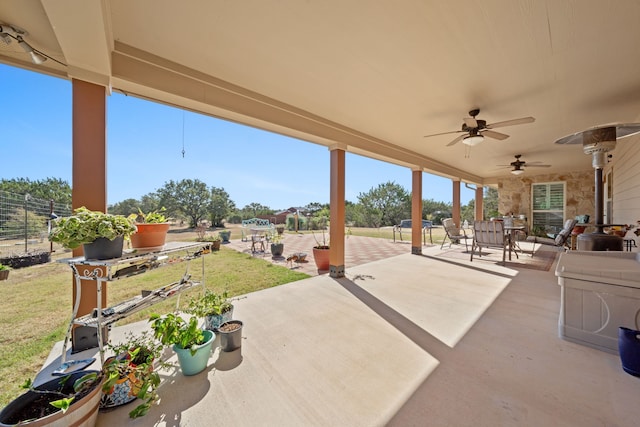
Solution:
[{"label": "tallest rounded tree between the first and second porch posts from left", "polygon": [[198,179],[171,180],[157,194],[160,206],[167,209],[167,216],[182,214],[188,218],[191,228],[195,228],[205,217],[211,201],[207,184]]}]

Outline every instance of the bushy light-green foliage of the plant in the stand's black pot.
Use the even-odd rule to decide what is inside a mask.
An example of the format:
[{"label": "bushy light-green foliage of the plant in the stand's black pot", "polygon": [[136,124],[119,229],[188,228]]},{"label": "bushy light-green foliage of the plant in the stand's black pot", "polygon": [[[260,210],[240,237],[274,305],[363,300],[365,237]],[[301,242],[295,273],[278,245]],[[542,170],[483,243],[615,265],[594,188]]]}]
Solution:
[{"label": "bushy light-green foliage of the plant in the stand's black pot", "polygon": [[123,215],[91,211],[82,206],[74,215],[54,220],[49,240],[75,249],[99,237],[113,240],[118,236],[128,239],[137,230],[133,221]]}]

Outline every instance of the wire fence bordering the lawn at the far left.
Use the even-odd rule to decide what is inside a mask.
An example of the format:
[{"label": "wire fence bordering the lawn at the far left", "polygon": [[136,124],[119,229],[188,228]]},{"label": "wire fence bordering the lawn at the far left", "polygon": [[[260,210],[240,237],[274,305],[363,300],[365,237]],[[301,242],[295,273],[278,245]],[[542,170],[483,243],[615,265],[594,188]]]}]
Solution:
[{"label": "wire fence bordering the lawn at the far left", "polygon": [[0,258],[16,254],[53,252],[51,220],[71,215],[71,206],[29,194],[0,191]]}]

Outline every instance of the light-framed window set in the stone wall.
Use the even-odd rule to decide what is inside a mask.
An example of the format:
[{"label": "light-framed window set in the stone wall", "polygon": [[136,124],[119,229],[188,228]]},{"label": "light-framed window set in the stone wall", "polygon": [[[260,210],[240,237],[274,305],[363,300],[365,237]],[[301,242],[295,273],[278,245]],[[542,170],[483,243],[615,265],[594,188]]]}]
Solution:
[{"label": "light-framed window set in the stone wall", "polygon": [[532,184],[533,230],[557,233],[564,222],[565,183],[550,182]]}]

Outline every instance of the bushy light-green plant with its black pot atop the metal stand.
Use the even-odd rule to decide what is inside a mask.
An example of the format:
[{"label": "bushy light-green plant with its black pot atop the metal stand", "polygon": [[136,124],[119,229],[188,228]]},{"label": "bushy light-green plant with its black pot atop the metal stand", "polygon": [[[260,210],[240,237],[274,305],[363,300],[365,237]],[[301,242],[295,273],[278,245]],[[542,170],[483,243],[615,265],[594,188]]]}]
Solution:
[{"label": "bushy light-green plant with its black pot atop the metal stand", "polygon": [[74,210],[74,215],[53,220],[49,240],[69,249],[83,245],[87,259],[110,259],[122,256],[123,239],[136,230],[133,220],[123,215],[82,206]]}]

